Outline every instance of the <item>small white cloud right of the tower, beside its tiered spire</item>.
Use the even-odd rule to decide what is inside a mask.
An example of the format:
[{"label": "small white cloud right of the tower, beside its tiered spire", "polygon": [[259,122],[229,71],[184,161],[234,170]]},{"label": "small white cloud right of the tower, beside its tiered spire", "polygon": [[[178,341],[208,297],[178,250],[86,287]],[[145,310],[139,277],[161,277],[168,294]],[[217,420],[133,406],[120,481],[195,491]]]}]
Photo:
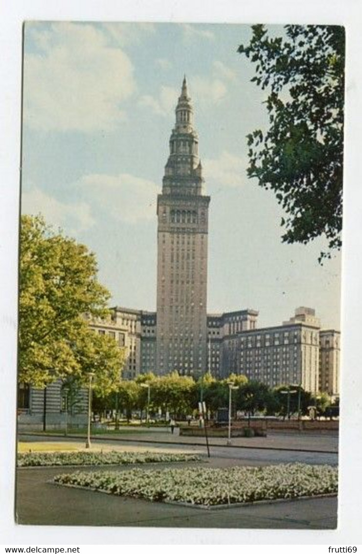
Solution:
[{"label": "small white cloud right of the tower, beside its tiered spire", "polygon": [[245,184],[247,161],[224,150],[216,160],[204,160],[206,182],[226,187],[241,187]]}]

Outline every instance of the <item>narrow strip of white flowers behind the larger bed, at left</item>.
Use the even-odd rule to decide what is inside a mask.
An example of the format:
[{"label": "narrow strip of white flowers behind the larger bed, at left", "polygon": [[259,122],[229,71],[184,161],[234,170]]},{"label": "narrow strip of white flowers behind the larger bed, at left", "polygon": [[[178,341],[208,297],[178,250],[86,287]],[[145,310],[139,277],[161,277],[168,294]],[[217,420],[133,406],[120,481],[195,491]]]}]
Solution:
[{"label": "narrow strip of white flowers behind the larger bed, at left", "polygon": [[153,452],[29,452],[18,454],[18,466],[38,465],[110,465],[150,464],[173,461],[200,461],[194,454],[159,454]]}]

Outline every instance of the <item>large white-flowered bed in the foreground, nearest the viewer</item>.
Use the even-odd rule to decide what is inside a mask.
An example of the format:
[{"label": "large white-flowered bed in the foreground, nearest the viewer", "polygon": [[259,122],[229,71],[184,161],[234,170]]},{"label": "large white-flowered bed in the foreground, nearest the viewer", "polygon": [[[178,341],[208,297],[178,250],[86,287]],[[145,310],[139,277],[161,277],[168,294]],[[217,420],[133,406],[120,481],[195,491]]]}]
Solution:
[{"label": "large white-flowered bed in the foreground, nearest the viewer", "polygon": [[55,483],[153,501],[218,506],[337,493],[338,470],[328,465],[260,468],[132,469],[56,475]]}]

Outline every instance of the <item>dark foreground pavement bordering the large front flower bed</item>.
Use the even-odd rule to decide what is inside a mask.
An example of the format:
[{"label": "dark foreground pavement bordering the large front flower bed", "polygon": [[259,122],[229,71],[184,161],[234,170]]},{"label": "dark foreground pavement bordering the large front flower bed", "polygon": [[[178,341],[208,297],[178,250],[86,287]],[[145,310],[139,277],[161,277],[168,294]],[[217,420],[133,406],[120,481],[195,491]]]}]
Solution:
[{"label": "dark foreground pavement bordering the large front flower bed", "polygon": [[[237,461],[240,464],[240,460],[213,458],[210,465],[235,465]],[[209,511],[49,483],[54,475],[64,471],[74,471],[74,468],[18,469],[16,500],[19,524],[219,529],[335,529],[337,525],[336,497]]]}]

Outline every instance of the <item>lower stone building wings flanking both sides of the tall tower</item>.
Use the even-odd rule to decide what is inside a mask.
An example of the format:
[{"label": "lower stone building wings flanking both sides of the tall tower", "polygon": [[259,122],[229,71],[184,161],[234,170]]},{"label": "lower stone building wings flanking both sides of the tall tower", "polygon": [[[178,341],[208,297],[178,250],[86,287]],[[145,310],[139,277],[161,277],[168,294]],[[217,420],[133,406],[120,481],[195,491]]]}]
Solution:
[{"label": "lower stone building wings flanking both sides of the tall tower", "polygon": [[[311,308],[299,307],[282,325],[257,328],[256,310],[207,316],[208,340],[204,372],[218,379],[245,375],[270,387],[298,384],[312,393],[339,394],[339,331],[320,329]],[[110,321],[90,322],[126,348],[122,376],[160,375],[157,366],[156,312],[115,307]],[[175,365],[172,370],[180,371]]]}]

